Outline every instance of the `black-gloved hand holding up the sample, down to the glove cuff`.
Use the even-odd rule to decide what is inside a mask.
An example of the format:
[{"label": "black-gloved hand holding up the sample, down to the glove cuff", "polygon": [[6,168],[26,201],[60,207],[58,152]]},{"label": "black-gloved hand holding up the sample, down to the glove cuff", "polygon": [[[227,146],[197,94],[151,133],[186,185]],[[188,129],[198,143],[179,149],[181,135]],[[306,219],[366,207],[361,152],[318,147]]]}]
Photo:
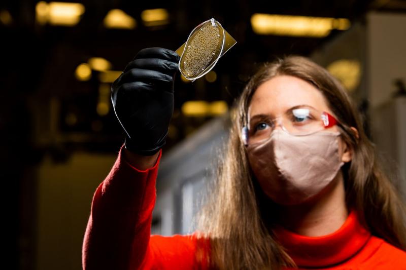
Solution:
[{"label": "black-gloved hand holding up the sample, down to the glove cuff", "polygon": [[174,112],[174,78],[179,58],[171,50],[143,49],[113,83],[111,99],[126,133],[128,150],[152,156],[165,144]]}]

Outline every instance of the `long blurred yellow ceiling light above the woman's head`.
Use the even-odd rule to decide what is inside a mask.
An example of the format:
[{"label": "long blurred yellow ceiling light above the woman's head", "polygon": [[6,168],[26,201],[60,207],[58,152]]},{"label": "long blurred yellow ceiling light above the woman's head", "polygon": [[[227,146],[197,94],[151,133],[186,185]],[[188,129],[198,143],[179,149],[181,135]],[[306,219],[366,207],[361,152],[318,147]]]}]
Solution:
[{"label": "long blurred yellow ceiling light above the woman's head", "polygon": [[257,34],[324,37],[332,29],[346,30],[351,24],[348,19],[342,18],[257,13],[251,16],[251,25]]}]

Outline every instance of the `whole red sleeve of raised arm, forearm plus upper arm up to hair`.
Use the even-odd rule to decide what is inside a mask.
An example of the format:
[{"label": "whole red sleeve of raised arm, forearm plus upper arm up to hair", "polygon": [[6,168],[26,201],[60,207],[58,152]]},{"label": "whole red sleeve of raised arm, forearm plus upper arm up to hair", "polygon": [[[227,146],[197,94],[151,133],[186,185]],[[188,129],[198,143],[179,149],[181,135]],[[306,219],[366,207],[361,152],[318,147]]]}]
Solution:
[{"label": "whole red sleeve of raised arm, forearm plus upper arm up to hair", "polygon": [[140,171],[125,161],[122,149],[93,196],[83,241],[83,269],[206,268],[208,240],[197,234],[150,237],[161,153],[154,167]]}]

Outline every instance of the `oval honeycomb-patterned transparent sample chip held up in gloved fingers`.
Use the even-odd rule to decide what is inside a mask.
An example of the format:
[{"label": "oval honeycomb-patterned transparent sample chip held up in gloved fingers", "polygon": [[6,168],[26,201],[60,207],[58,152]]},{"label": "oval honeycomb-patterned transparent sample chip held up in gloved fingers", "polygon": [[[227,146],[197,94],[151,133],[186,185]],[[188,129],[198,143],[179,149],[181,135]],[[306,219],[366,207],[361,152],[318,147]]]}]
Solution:
[{"label": "oval honeycomb-patterned transparent sample chip held up in gloved fingers", "polygon": [[180,55],[179,70],[194,81],[206,75],[236,41],[215,19],[200,23],[176,52]]}]

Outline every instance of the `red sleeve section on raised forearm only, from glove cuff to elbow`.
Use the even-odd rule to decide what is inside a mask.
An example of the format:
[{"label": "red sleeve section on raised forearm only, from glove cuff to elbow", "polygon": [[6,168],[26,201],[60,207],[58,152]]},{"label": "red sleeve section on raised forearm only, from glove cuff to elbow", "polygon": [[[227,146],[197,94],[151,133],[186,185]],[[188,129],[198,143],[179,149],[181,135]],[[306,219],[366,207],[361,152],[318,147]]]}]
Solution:
[{"label": "red sleeve section on raised forearm only, from glove cuff to elbow", "polygon": [[124,160],[121,147],[93,196],[82,249],[83,269],[137,269],[149,244],[155,204],[154,167],[140,171]]}]

